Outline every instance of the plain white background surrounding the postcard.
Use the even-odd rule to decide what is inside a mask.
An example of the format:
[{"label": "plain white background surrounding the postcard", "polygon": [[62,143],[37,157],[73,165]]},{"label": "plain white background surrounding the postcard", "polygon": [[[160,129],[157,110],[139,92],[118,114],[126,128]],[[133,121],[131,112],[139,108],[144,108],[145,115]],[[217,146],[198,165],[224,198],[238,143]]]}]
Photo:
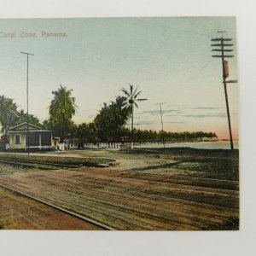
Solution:
[{"label": "plain white background surrounding the postcard", "polygon": [[[0,230],[0,253],[24,255],[255,255],[255,45],[253,0],[0,1],[0,18],[236,15],[241,91],[241,230],[236,232],[64,232]],[[0,28],[1,30],[1,28]]]}]

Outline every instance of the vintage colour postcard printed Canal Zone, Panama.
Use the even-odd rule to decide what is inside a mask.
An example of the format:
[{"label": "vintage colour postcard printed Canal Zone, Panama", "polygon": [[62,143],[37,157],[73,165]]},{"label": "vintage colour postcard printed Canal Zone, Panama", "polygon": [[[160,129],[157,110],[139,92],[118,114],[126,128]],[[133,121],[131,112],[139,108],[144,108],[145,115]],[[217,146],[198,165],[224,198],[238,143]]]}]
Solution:
[{"label": "vintage colour postcard printed Canal Zone, Panama", "polygon": [[0,24],[0,229],[240,229],[236,17]]}]

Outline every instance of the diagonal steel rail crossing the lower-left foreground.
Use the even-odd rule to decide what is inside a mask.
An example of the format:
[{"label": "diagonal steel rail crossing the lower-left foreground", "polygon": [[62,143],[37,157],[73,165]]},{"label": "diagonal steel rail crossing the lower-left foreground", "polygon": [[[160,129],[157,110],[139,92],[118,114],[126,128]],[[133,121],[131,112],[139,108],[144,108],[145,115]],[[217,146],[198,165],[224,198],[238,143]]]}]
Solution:
[{"label": "diagonal steel rail crossing the lower-left foreground", "polygon": [[65,208],[62,208],[62,207],[58,207],[58,206],[55,206],[54,204],[51,204],[47,201],[43,201],[41,199],[38,199],[34,196],[31,196],[31,195],[27,195],[26,193],[23,193],[23,192],[20,192],[18,190],[15,190],[15,189],[12,189],[12,188],[9,188],[8,186],[6,185],[3,185],[3,184],[0,184],[0,188],[3,188],[3,189],[6,189],[6,190],[9,190],[11,191],[12,193],[15,193],[15,194],[18,194],[18,195],[22,195],[32,201],[37,201],[39,203],[42,203],[44,204],[45,206],[48,206],[48,207],[52,207],[54,208],[55,210],[58,210],[60,212],[64,212],[70,216],[72,216],[73,218],[78,218],[82,221],[84,221],[85,223],[88,223],[88,224],[92,224],[92,225],[95,225],[97,228],[100,228],[101,230],[114,230],[112,227],[109,227],[108,225],[106,224],[101,224],[99,222],[97,222],[96,220],[93,220],[91,218],[88,218],[88,217],[85,217],[83,215],[80,215],[79,213],[76,213],[76,212],[72,212],[72,211],[69,211]]}]

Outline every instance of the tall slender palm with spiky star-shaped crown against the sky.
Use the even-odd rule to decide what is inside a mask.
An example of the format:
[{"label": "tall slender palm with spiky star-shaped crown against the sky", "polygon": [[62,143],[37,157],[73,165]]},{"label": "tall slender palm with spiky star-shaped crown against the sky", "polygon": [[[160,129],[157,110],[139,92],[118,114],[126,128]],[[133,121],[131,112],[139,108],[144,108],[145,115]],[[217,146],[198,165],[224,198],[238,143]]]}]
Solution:
[{"label": "tall slender palm with spiky star-shaped crown against the sky", "polygon": [[133,131],[133,113],[134,113],[134,107],[138,108],[137,102],[143,102],[147,99],[139,99],[138,96],[142,93],[142,90],[137,91],[137,88],[134,90],[133,85],[129,84],[130,88],[129,90],[126,90],[125,88],[122,89],[122,91],[125,94],[125,101],[127,108],[130,109],[131,113],[131,132]]}]

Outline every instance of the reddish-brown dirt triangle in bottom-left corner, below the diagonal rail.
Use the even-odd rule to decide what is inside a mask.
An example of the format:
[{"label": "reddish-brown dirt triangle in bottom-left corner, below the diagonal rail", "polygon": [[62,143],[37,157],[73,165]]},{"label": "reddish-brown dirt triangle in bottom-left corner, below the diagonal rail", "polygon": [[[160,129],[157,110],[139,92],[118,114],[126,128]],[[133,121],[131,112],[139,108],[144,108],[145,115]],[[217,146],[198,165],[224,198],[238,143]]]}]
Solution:
[{"label": "reddish-brown dirt triangle in bottom-left corner, below the diagonal rail", "polygon": [[5,230],[98,230],[52,207],[0,188],[0,228]]}]

